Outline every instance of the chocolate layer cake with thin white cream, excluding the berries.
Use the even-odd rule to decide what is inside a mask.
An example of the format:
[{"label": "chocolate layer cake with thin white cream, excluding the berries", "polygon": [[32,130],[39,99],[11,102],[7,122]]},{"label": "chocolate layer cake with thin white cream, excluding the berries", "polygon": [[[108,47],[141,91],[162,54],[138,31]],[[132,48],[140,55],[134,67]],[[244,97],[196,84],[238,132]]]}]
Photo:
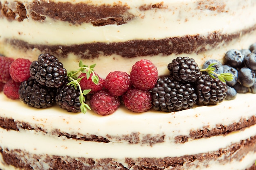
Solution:
[{"label": "chocolate layer cake with thin white cream, excluding the berries", "polygon": [[[102,78],[141,59],[159,76],[179,56],[202,68],[256,42],[255,0],[0,0],[0,9],[3,56],[49,53],[68,71],[96,63]],[[255,97],[170,113],[120,105],[101,116],[27,107],[1,92],[0,169],[256,170]]]}]

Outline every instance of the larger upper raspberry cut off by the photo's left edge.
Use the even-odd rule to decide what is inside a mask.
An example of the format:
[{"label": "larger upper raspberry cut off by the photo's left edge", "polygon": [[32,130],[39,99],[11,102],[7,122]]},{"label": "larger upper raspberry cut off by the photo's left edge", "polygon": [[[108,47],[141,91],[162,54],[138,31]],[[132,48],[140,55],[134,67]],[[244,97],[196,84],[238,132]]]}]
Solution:
[{"label": "larger upper raspberry cut off by the photo's left edge", "polygon": [[11,79],[9,68],[13,61],[12,58],[0,56],[0,82],[6,83]]}]

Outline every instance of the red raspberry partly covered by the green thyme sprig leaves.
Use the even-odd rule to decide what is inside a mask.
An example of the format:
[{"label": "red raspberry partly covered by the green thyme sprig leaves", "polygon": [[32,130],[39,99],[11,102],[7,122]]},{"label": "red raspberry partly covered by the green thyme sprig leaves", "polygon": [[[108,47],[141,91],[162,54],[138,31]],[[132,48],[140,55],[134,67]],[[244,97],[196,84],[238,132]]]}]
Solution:
[{"label": "red raspberry partly covered by the green thyme sprig leaves", "polygon": [[81,73],[78,78],[81,78],[84,76],[84,78],[81,79],[80,81],[80,85],[81,85],[81,89],[85,90],[85,89],[91,89],[90,94],[93,94],[95,92],[100,91],[101,89],[103,89],[104,87],[104,79],[99,77],[98,74],[95,73],[95,75],[97,75],[99,77],[99,83],[96,85],[95,83],[93,83],[92,81],[92,73],[90,74],[90,77],[87,79],[86,78],[86,73]]}]

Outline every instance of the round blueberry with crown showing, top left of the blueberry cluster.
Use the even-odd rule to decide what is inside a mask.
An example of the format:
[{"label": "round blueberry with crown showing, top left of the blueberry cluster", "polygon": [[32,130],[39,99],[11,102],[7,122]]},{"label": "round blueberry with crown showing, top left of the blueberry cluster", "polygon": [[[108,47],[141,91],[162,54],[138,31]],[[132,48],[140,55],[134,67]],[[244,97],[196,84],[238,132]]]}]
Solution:
[{"label": "round blueberry with crown showing, top left of the blueberry cluster", "polygon": [[231,65],[234,68],[239,68],[244,61],[245,57],[240,50],[229,50],[224,57],[225,64]]}]

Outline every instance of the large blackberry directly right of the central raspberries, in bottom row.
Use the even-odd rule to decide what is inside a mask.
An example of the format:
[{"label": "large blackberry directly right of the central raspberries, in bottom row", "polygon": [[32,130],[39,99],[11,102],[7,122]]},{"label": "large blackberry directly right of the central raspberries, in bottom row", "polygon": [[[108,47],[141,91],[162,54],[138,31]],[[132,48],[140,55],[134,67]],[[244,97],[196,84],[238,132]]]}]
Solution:
[{"label": "large blackberry directly right of the central raspberries, in bottom row", "polygon": [[179,83],[171,77],[160,77],[152,91],[153,109],[165,112],[192,108],[197,96],[192,85]]}]

